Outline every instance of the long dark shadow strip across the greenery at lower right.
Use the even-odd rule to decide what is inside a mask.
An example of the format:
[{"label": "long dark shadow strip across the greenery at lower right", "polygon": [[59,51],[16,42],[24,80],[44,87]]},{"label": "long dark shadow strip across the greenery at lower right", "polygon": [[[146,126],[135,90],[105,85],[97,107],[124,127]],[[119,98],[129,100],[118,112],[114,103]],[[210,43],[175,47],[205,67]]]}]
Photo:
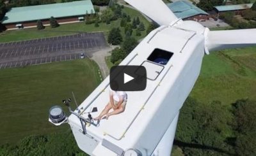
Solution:
[{"label": "long dark shadow strip across the greenery at lower right", "polygon": [[201,150],[212,150],[212,151],[219,152],[219,153],[225,153],[227,155],[234,155],[234,153],[230,153],[230,152],[222,150],[220,148],[206,146],[206,145],[200,145],[200,144],[196,144],[196,143],[184,143],[183,141],[179,141],[177,139],[174,139],[173,144],[177,145],[179,147],[197,148],[197,149],[201,149]]}]

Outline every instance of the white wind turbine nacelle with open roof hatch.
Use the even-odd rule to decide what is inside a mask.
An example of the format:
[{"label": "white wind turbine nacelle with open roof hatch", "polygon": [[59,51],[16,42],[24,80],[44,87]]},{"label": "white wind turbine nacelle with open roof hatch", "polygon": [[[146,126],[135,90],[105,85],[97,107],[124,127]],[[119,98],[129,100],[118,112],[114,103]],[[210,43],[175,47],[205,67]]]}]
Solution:
[{"label": "white wind turbine nacelle with open roof hatch", "polygon": [[[134,155],[166,155],[170,152],[179,110],[200,73],[204,42],[204,34],[179,25],[161,26],[150,32],[120,64],[145,66],[146,89],[127,92],[125,111],[108,120],[100,120],[97,126],[87,124],[85,134],[79,118],[70,115],[68,124],[79,148],[90,155],[124,155],[129,152]],[[164,64],[157,62],[163,59],[163,53],[170,53]],[[79,114],[86,117],[83,112],[93,107],[103,110],[109,101],[108,90],[109,77],[79,106],[83,108]],[[100,111],[92,116],[97,117]],[[170,138],[164,139],[164,136]],[[161,145],[170,146],[163,148]]]}]

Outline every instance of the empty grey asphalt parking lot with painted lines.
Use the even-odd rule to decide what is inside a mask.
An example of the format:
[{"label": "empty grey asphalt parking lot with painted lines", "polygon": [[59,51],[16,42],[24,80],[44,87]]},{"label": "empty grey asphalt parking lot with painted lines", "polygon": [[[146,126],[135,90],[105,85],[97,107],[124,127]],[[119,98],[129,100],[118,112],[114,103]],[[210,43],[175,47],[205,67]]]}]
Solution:
[{"label": "empty grey asphalt parking lot with painted lines", "polygon": [[33,39],[0,44],[0,69],[79,59],[106,47],[102,32]]}]

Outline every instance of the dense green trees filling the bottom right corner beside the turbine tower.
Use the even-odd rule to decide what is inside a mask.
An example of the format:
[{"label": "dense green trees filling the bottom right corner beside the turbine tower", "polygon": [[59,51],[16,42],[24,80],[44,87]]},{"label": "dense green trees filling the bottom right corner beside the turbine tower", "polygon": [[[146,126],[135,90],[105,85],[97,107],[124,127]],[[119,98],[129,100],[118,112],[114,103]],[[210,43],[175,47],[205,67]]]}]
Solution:
[{"label": "dense green trees filling the bottom right corner beside the turbine tower", "polygon": [[184,155],[255,155],[256,101],[239,100],[232,110],[189,97],[180,111],[175,145]]}]

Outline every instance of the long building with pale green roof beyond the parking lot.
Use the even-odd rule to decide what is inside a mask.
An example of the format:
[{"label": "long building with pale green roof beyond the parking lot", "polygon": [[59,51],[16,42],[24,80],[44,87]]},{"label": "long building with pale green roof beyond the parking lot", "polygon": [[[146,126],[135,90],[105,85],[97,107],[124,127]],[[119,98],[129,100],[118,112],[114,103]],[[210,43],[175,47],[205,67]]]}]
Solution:
[{"label": "long building with pale green roof beyond the parking lot", "polygon": [[69,3],[44,4],[12,8],[2,20],[7,29],[15,27],[35,27],[37,20],[49,24],[54,17],[58,23],[79,22],[84,15],[95,13],[92,1],[73,1]]}]

